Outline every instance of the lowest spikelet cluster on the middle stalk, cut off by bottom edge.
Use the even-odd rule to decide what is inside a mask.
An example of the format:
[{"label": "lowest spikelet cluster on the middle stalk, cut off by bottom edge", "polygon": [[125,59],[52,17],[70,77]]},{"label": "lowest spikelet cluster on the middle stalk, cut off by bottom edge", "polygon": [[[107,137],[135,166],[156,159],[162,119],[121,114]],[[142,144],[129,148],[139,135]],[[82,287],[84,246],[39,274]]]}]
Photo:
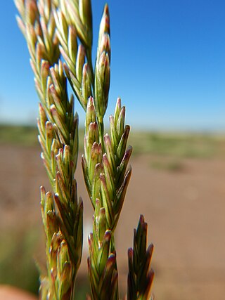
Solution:
[{"label": "lowest spikelet cluster on the middle stalk, cut off by bottom edge", "polygon": [[107,230],[105,208],[96,200],[93,234],[89,235],[88,270],[91,299],[116,299],[117,268],[115,252],[110,252],[112,232]]}]

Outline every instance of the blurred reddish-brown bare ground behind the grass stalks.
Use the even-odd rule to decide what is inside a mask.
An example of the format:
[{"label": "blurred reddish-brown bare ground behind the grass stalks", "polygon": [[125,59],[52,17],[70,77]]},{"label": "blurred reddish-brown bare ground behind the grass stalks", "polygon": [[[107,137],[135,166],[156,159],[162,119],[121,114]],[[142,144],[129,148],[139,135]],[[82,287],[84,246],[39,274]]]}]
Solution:
[{"label": "blurred reddish-brown bare ground behind the grass stalks", "polygon": [[[133,174],[117,226],[120,289],[127,274],[127,248],[133,228],[144,214],[148,242],[153,242],[153,292],[161,300],[224,300],[225,294],[225,161],[183,159],[180,171],[153,169],[155,157],[134,157]],[[160,159],[158,157],[158,159]],[[0,146],[0,228],[39,228],[39,185],[48,181],[39,148]],[[84,200],[84,259],[93,211],[78,164],[76,178]],[[23,225],[21,223],[23,216]],[[2,244],[2,243],[1,243]],[[43,252],[35,255],[41,256]]]}]

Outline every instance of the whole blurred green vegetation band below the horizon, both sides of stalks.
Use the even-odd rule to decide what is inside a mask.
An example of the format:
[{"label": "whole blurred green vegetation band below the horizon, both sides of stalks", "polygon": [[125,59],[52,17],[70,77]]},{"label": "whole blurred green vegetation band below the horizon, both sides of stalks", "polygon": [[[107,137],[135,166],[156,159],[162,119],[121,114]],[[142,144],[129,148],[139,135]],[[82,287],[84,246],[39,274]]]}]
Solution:
[{"label": "whole blurred green vegetation band below the horizon, both sides of stalks", "polygon": [[[0,145],[37,146],[34,126],[0,125]],[[79,133],[79,148],[84,147],[84,130]],[[134,155],[162,155],[170,157],[225,157],[225,135],[210,133],[157,133],[131,131],[129,143]]]}]

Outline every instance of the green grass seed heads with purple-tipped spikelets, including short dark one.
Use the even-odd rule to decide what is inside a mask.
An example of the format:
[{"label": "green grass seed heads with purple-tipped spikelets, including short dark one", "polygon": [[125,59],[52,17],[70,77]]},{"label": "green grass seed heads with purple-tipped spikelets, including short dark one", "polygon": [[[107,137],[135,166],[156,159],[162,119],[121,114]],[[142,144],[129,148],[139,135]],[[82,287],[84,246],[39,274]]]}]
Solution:
[{"label": "green grass seed heads with purple-tipped spikelets, including short dark one", "polygon": [[[86,112],[82,168],[94,208],[89,235],[90,299],[119,299],[115,229],[127,191],[131,147],[125,107],[117,100],[104,115],[110,89],[110,17],[105,5],[95,67],[92,65],[90,0],[15,0],[18,25],[27,40],[39,105],[39,143],[52,192],[41,187],[46,233],[46,271],[41,270],[41,299],[75,299],[75,279],[82,257],[83,202],[74,178],[78,156],[78,116],[68,97],[67,79]],[[64,63],[63,63],[64,61]],[[128,299],[149,299],[153,281],[146,251],[147,224],[141,216],[129,249]]]}]

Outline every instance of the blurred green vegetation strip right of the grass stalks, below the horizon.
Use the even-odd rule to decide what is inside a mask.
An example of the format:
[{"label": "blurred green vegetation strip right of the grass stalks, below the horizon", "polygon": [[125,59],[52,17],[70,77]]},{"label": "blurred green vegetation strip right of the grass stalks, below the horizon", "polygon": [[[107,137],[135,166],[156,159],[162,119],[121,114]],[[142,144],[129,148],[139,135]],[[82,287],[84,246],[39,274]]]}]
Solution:
[{"label": "blurred green vegetation strip right of the grass stalks, below the horizon", "polygon": [[224,156],[225,136],[210,133],[133,132],[134,154],[209,158]]}]

